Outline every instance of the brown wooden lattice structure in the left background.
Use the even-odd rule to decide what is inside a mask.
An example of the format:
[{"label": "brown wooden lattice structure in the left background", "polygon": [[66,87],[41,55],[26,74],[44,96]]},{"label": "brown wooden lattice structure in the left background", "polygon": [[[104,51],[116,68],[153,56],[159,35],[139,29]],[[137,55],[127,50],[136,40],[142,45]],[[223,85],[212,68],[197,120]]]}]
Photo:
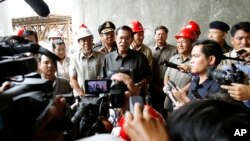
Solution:
[{"label": "brown wooden lattice structure in the left background", "polygon": [[37,32],[38,40],[46,42],[51,30],[57,29],[62,31],[65,44],[72,45],[72,20],[70,16],[50,15],[46,18],[34,16],[24,18],[13,18],[13,31],[18,28],[30,29]]}]

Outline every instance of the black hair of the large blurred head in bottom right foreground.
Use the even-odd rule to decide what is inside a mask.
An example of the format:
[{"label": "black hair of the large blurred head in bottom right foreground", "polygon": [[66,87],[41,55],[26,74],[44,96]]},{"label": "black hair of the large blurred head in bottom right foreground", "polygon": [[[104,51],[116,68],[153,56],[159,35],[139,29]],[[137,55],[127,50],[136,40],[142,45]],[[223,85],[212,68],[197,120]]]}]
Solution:
[{"label": "black hair of the large blurred head in bottom right foreground", "polygon": [[172,141],[233,141],[237,140],[236,129],[249,129],[249,119],[250,109],[246,106],[197,100],[171,113],[167,128]]}]

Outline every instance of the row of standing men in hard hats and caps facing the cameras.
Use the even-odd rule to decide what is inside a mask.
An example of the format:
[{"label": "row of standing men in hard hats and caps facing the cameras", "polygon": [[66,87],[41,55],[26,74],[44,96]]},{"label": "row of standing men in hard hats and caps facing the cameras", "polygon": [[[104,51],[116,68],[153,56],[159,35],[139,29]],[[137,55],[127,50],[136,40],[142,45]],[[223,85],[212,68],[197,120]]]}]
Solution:
[{"label": "row of standing men in hard hats and caps facing the cameras", "polygon": [[[217,42],[226,56],[239,57],[236,51],[242,48],[247,50],[250,44],[249,22],[240,22],[232,27],[232,47],[225,40],[229,30],[230,27],[225,22],[213,21],[209,24],[208,39]],[[128,26],[118,28],[111,21],[106,21],[98,27],[100,42],[94,44],[93,34],[86,25],[82,24],[76,34],[79,49],[67,61],[68,76],[66,78],[74,94],[84,97],[85,80],[109,79],[117,72],[124,72],[132,77],[136,86],[141,90],[140,95],[145,101],[147,101],[146,96],[150,95],[150,101],[147,102],[150,102],[158,111],[163,110],[166,97],[163,92],[164,86],[171,90],[168,81],[175,82],[186,93],[192,87],[198,89],[198,92],[205,92],[205,94],[199,94],[204,97],[211,92],[209,91],[211,86],[207,85],[206,81],[204,83],[198,81],[199,85],[191,85],[192,79],[195,78],[195,74],[191,71],[191,60],[196,57],[192,54],[192,44],[199,39],[201,34],[198,23],[190,21],[180,30],[175,36],[176,47],[167,43],[168,28],[165,26],[156,27],[155,44],[150,46],[143,43],[144,31],[139,21],[131,21]],[[49,40],[53,43],[61,35],[57,35],[60,34],[59,32],[52,33],[49,34]],[[34,37],[31,35],[33,34],[23,34],[26,39],[38,42],[37,35],[34,34]],[[160,65],[164,61],[177,64],[179,69]],[[62,66],[62,63],[58,65]],[[227,69],[232,63],[235,63],[247,75],[250,74],[249,66],[239,61],[224,60],[218,65],[220,68]]]}]

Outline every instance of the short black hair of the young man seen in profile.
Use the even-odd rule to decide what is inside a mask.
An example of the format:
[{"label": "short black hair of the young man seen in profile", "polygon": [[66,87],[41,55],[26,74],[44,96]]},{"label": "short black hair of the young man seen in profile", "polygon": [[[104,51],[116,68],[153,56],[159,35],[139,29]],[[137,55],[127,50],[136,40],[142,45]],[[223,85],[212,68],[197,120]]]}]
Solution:
[{"label": "short black hair of the young man seen in profile", "polygon": [[198,40],[193,44],[193,47],[198,45],[202,45],[202,52],[206,57],[215,57],[215,67],[220,64],[223,52],[219,43],[208,39]]}]

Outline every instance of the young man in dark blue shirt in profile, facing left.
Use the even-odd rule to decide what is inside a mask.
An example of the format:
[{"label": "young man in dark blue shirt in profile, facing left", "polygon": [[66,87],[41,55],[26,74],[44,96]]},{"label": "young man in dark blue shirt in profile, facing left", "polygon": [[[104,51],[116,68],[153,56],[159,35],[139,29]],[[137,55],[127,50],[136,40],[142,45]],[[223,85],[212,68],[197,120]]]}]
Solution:
[{"label": "young man in dark blue shirt in profile, facing left", "polygon": [[184,104],[195,99],[203,99],[208,93],[219,91],[220,84],[207,76],[208,68],[217,67],[222,59],[220,45],[212,40],[199,40],[193,45],[191,73],[195,74],[188,94],[176,91],[174,96]]}]

